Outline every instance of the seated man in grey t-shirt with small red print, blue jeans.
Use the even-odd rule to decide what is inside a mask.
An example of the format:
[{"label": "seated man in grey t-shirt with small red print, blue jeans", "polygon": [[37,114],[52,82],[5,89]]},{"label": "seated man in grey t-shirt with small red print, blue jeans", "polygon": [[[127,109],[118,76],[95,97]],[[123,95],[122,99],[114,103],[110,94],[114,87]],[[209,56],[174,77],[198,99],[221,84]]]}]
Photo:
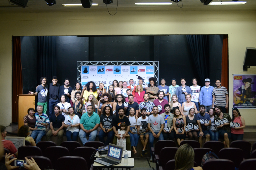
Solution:
[{"label": "seated man in grey t-shirt with small red print, blue jeans", "polygon": [[149,146],[150,146],[150,161],[152,162],[152,151],[151,148],[154,147],[154,140],[164,140],[162,131],[165,126],[165,120],[163,116],[158,114],[158,107],[153,106],[153,114],[148,116],[148,129],[149,129]]}]

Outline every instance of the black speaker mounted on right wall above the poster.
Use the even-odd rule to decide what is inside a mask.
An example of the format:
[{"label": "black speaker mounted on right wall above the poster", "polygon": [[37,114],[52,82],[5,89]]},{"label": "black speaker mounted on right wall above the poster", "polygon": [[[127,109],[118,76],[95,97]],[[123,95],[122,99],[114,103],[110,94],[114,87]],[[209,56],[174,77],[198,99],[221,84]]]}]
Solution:
[{"label": "black speaker mounted on right wall above the poster", "polygon": [[246,47],[244,60],[243,60],[243,71],[247,71],[250,66],[256,66],[256,48]]}]

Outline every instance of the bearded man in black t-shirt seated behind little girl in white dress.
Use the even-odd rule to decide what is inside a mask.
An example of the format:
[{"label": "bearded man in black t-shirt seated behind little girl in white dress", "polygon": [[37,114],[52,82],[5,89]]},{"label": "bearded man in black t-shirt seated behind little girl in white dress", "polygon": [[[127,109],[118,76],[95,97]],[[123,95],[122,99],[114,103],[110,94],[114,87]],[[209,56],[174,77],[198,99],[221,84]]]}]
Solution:
[{"label": "bearded man in black t-shirt seated behind little girl in white dress", "polygon": [[127,126],[127,130],[126,130],[126,133],[123,135],[123,137],[126,138],[126,149],[128,151],[131,150],[131,142],[130,142],[130,137],[126,136],[130,130],[130,121],[128,119],[128,117],[124,116],[124,108],[119,108],[118,109],[118,114],[119,116],[117,116],[116,118],[114,118],[114,121],[113,121],[113,131],[115,132],[116,135],[118,135],[118,137],[114,137],[113,139],[113,144],[117,144],[117,138],[121,138],[120,135],[117,133],[118,129],[120,128],[121,126],[121,123],[125,122],[126,126]]}]

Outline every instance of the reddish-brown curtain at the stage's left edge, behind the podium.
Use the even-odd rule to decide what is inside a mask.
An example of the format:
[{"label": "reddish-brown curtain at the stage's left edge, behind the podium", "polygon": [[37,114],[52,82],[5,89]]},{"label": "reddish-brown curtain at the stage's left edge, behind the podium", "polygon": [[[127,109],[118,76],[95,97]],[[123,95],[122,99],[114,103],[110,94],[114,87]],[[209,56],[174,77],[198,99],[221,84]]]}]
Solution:
[{"label": "reddish-brown curtain at the stage's left edge, behind the podium", "polygon": [[22,68],[20,58],[20,37],[13,37],[13,81],[12,81],[12,122],[18,122],[17,96],[23,94],[22,90]]}]

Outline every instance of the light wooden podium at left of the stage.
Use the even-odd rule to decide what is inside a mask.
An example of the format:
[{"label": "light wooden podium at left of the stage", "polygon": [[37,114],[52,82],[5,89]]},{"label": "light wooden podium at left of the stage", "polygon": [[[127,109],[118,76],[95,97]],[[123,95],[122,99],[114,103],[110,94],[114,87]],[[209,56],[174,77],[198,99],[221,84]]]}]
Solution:
[{"label": "light wooden podium at left of the stage", "polygon": [[18,128],[24,125],[23,117],[29,108],[35,108],[35,95],[19,94],[18,96]]}]

